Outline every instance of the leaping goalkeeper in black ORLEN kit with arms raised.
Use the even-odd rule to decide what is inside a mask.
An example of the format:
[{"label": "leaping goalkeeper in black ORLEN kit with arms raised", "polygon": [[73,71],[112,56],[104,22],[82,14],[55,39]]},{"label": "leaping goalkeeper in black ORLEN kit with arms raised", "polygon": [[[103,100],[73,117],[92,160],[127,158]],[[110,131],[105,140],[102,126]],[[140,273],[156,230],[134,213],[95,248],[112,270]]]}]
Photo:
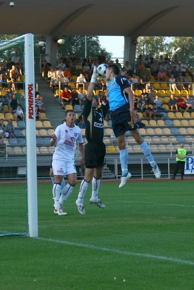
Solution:
[{"label": "leaping goalkeeper in black ORLEN kit with arms raised", "polygon": [[105,208],[105,205],[98,198],[98,190],[100,179],[102,177],[103,167],[105,165],[106,147],[103,143],[104,118],[109,110],[109,102],[104,99],[102,106],[98,108],[96,100],[92,98],[95,82],[98,78],[96,69],[97,68],[94,68],[83,109],[86,125],[85,135],[88,143],[85,145],[85,177],[81,182],[79,195],[75,202],[78,208],[78,212],[81,215],[85,215],[83,200],[91,180],[92,196],[89,202],[99,206],[100,208]]}]

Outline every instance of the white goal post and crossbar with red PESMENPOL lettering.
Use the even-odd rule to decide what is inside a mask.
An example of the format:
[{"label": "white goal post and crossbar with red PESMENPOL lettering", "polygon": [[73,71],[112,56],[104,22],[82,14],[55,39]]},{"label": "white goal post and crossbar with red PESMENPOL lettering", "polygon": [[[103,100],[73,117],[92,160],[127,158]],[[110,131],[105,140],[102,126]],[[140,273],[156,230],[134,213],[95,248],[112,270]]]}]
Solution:
[{"label": "white goal post and crossbar with red PESMENPOL lettering", "polygon": [[28,191],[28,229],[30,237],[38,236],[37,173],[36,173],[36,131],[35,131],[35,79],[34,43],[31,33],[19,36],[0,44],[0,51],[19,46],[24,42],[25,68],[25,120],[26,158]]}]

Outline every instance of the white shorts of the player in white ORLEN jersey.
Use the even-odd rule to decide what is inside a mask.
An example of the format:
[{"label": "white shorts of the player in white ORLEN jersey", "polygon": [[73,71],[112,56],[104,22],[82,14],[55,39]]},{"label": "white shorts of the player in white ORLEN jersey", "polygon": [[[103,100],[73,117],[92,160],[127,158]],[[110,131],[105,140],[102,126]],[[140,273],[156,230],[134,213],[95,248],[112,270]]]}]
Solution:
[{"label": "white shorts of the player in white ORLEN jersey", "polygon": [[71,173],[77,174],[73,161],[67,162],[59,159],[54,159],[52,160],[52,170],[54,175],[65,176]]}]

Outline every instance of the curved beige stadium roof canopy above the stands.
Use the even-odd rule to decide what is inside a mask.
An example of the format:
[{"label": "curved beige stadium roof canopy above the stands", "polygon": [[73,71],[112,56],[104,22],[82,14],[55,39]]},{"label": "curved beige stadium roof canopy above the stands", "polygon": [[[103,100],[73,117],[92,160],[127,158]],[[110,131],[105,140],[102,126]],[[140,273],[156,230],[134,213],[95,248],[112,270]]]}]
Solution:
[{"label": "curved beige stadium roof canopy above the stands", "polygon": [[193,0],[0,0],[1,34],[193,36]]}]

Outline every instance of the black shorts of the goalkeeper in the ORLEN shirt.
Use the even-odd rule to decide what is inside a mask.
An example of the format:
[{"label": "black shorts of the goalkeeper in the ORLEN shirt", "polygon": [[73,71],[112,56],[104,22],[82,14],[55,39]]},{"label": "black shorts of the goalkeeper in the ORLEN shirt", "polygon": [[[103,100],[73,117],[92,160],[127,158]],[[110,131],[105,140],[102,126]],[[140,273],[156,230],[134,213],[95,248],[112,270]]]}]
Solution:
[{"label": "black shorts of the goalkeeper in the ORLEN shirt", "polygon": [[106,146],[104,143],[89,142],[85,145],[85,167],[96,168],[105,165]]}]

